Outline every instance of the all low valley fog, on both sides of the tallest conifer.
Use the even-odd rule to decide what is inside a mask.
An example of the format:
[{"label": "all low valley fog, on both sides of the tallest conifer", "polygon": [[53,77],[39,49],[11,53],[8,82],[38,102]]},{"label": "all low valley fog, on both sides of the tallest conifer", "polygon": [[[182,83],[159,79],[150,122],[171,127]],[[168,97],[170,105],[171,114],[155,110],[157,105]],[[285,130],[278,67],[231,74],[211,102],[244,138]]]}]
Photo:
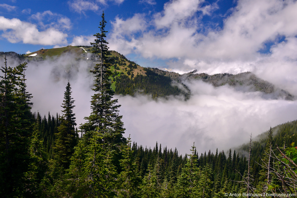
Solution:
[{"label": "all low valley fog, on both sides of the tallest conifer", "polygon": [[[27,90],[32,93],[32,111],[41,115],[61,115],[61,104],[67,81],[71,83],[78,125],[90,110],[93,64],[84,57],[71,55],[52,60],[30,61],[26,71]],[[295,120],[297,101],[273,100],[261,92],[248,92],[229,86],[213,87],[202,81],[184,82],[192,96],[168,100],[149,96],[115,96],[123,115],[125,137],[153,148],[156,144],[189,152],[195,142],[198,152],[229,149],[246,143],[269,127]]]}]

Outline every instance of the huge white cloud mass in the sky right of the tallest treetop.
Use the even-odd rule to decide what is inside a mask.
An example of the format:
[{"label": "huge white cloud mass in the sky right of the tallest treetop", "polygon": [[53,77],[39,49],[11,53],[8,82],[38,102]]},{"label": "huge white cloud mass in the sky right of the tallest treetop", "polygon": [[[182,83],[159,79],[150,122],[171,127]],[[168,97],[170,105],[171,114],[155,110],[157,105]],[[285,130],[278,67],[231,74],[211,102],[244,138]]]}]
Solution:
[{"label": "huge white cloud mass in the sky right of the tallest treetop", "polygon": [[[136,14],[133,31],[128,29],[132,18],[116,18],[108,41],[112,49],[123,54],[173,58],[176,61],[168,62],[168,67],[174,71],[252,71],[297,95],[297,2],[239,0],[222,28],[206,28],[204,33],[198,33],[205,28],[199,13],[208,15],[215,9],[215,3],[201,7],[199,1],[170,1],[153,19]],[[285,42],[278,44],[280,37]],[[268,41],[275,43],[271,54],[260,54],[259,49]]]}]

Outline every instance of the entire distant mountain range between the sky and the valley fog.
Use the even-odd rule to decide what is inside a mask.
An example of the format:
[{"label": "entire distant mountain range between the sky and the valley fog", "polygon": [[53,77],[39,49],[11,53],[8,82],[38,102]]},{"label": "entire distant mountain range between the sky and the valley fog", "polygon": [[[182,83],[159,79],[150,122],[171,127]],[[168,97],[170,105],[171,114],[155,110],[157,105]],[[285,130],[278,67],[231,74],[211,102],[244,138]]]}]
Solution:
[{"label": "entire distant mountain range between the sky and the valley fog", "polygon": [[[91,46],[67,46],[54,49],[40,49],[30,54],[17,54],[15,52],[0,52],[0,57],[10,56],[19,59],[20,62],[32,60],[43,61],[56,56],[72,54],[77,60],[86,59],[92,62],[97,60],[92,53]],[[260,91],[263,97],[286,100],[294,100],[295,97],[289,92],[277,88],[275,85],[262,80],[251,72],[244,72],[236,75],[224,73],[208,75],[205,73],[197,74],[197,70],[180,75],[171,71],[164,71],[158,68],[145,68],[136,62],[128,60],[116,51],[110,51],[112,71],[114,72],[112,87],[117,94],[134,95],[136,93],[150,94],[155,97],[167,97],[169,95],[184,95],[190,97],[191,90],[187,88],[185,80],[202,80],[215,87],[230,85],[235,89],[244,92]]]}]

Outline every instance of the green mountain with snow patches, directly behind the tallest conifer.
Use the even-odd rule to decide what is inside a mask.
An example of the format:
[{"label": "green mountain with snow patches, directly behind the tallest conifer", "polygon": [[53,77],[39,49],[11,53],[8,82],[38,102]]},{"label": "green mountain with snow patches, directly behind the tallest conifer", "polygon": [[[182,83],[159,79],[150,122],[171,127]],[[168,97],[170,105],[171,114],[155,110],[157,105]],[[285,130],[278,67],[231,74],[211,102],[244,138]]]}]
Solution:
[{"label": "green mountain with snow patches, directly behind the tallest conifer", "polygon": [[[63,54],[71,54],[76,59],[88,58],[94,64],[97,58],[92,54],[91,46],[67,46],[55,49],[40,49],[36,52],[26,54],[28,61],[44,60],[54,58]],[[34,56],[31,56],[34,55]],[[167,97],[169,95],[184,95],[189,97],[190,90],[182,83],[174,82],[180,75],[174,72],[162,71],[157,68],[145,68],[128,60],[116,51],[110,51],[112,58],[113,76],[111,86],[116,94],[134,95],[142,93],[155,97]],[[172,85],[174,84],[174,85]]]}]

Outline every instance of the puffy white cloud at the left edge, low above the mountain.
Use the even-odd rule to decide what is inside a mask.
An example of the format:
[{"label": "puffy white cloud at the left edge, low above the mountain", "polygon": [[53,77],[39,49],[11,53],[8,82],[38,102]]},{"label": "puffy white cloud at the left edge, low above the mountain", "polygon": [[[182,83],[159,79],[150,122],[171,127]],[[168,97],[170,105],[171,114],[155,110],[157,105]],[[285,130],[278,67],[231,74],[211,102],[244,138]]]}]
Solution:
[{"label": "puffy white cloud at the left edge, low above the mountain", "polygon": [[34,24],[21,21],[19,19],[6,19],[0,16],[0,30],[4,31],[2,37],[11,43],[22,41],[26,44],[56,45],[66,44],[67,34],[55,28],[48,28],[39,31]]}]

